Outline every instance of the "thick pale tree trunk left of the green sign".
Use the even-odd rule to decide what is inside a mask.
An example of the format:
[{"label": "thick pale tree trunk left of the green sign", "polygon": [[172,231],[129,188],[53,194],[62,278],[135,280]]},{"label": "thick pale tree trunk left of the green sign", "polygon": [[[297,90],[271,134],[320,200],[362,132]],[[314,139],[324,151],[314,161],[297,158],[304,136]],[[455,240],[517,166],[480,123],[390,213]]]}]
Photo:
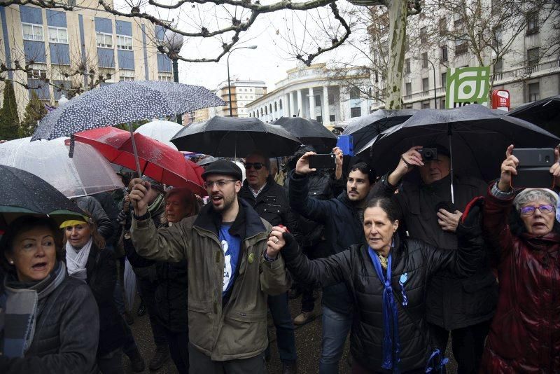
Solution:
[{"label": "thick pale tree trunk left of the green sign", "polygon": [[385,109],[401,109],[402,66],[405,62],[407,36],[407,0],[390,0],[387,4],[389,19],[388,66]]}]

